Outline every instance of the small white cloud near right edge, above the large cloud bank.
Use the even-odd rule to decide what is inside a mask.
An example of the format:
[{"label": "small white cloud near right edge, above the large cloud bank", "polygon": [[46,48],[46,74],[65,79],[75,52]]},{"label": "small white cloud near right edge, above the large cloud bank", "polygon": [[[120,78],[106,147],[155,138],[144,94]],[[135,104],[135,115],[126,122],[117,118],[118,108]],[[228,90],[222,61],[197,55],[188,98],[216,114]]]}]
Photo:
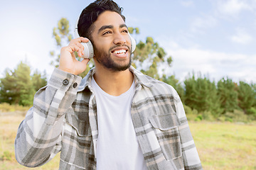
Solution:
[{"label": "small white cloud near right edge, above the large cloud bank", "polygon": [[233,42],[240,44],[247,44],[253,40],[252,36],[245,32],[245,30],[237,29],[235,35],[231,36]]}]

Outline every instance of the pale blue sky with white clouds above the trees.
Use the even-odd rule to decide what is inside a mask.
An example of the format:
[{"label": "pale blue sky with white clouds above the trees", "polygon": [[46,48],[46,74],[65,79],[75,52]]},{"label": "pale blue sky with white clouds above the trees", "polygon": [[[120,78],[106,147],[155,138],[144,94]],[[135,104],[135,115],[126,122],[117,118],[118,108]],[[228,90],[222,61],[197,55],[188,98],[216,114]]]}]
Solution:
[{"label": "pale blue sky with white clouds above the trees", "polygon": [[[65,17],[73,33],[75,21],[92,1],[2,1],[0,6],[0,77],[6,68],[27,61],[32,69],[53,72],[49,52],[56,45],[53,27]],[[134,36],[154,38],[174,60],[166,74],[183,81],[201,72],[218,81],[256,82],[255,0],[116,1],[124,8]]]}]

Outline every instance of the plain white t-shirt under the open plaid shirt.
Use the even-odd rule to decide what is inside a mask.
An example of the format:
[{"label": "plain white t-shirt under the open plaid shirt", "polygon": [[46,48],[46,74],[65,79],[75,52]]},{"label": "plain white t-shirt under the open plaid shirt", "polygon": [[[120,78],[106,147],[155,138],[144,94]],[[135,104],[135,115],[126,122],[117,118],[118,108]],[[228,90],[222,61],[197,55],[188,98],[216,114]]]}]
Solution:
[{"label": "plain white t-shirt under the open plaid shirt", "polygon": [[97,103],[97,170],[146,170],[131,117],[134,82],[120,96],[111,96],[92,79]]}]

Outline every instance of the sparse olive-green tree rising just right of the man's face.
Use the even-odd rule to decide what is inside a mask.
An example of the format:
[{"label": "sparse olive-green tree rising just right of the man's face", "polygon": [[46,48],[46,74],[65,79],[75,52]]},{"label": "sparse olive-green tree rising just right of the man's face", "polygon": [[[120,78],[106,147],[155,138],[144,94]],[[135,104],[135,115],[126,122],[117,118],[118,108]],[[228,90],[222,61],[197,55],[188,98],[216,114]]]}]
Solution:
[{"label": "sparse olive-green tree rising just right of the man's face", "polygon": [[[129,33],[139,34],[139,28],[128,28]],[[159,46],[158,42],[154,42],[153,38],[147,37],[146,42],[139,41],[137,43],[134,54],[132,55],[132,66],[139,69],[142,73],[164,81],[178,91],[179,96],[183,99],[184,90],[178,79],[174,75],[166,77],[166,74],[159,76],[159,66],[166,64],[167,68],[171,67],[172,63],[171,56],[167,57],[166,52],[162,47]],[[164,69],[162,70],[164,72]]]}]

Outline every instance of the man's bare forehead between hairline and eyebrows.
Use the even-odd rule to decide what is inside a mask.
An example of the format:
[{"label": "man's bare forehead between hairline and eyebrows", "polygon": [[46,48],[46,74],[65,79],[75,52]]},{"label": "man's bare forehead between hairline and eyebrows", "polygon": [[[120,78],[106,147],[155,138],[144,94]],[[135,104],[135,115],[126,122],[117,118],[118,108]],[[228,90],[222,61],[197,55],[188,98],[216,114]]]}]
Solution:
[{"label": "man's bare forehead between hairline and eyebrows", "polygon": [[99,30],[102,26],[113,26],[118,27],[125,24],[122,17],[113,11],[105,11],[98,16],[97,20],[95,21],[94,30]]}]

